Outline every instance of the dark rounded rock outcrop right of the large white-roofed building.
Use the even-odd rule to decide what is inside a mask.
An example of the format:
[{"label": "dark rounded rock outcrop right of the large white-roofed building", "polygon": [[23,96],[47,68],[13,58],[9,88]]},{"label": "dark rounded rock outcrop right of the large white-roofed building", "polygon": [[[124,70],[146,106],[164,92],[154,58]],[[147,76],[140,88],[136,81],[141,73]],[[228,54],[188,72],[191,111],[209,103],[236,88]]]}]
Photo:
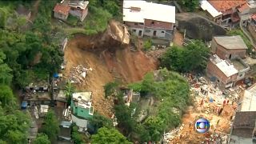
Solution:
[{"label": "dark rounded rock outcrop right of the large white-roofed building", "polygon": [[186,30],[186,36],[193,39],[211,41],[214,35],[225,35],[226,30],[214,22],[202,18],[198,14],[182,13],[176,14],[178,30]]}]

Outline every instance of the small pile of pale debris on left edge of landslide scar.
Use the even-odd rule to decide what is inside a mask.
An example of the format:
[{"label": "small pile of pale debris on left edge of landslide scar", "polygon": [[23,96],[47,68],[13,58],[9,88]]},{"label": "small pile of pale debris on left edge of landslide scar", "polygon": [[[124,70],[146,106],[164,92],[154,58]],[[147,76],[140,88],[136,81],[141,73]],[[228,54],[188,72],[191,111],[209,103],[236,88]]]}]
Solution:
[{"label": "small pile of pale debris on left edge of landslide scar", "polygon": [[91,71],[92,68],[87,69],[84,66],[73,66],[70,70],[70,82],[78,83],[82,85],[82,82],[86,81],[86,75],[88,71]]}]

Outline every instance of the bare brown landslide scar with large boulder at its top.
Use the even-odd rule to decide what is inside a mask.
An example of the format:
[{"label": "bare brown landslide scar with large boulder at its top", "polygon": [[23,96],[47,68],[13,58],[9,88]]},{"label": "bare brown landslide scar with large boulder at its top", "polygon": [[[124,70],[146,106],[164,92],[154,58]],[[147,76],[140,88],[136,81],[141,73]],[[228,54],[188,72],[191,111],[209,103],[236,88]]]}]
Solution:
[{"label": "bare brown landslide scar with large boulder at its top", "polygon": [[70,74],[73,66],[91,67],[93,70],[87,75],[85,84],[77,89],[93,91],[94,110],[107,117],[113,114],[113,102],[104,98],[103,86],[107,82],[114,79],[124,84],[136,82],[157,68],[157,62],[142,51],[131,51],[129,41],[126,27],[111,21],[104,33],[94,36],[76,34],[66,46],[65,75]]}]

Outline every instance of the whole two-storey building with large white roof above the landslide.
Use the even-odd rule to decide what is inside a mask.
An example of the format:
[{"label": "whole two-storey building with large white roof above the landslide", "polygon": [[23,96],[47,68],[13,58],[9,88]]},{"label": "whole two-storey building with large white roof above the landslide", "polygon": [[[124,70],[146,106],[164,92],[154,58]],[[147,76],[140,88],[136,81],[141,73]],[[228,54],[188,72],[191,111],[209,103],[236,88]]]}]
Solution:
[{"label": "whole two-storey building with large white roof above the landslide", "polygon": [[124,1],[123,22],[139,37],[149,36],[171,41],[175,7],[146,1]]}]

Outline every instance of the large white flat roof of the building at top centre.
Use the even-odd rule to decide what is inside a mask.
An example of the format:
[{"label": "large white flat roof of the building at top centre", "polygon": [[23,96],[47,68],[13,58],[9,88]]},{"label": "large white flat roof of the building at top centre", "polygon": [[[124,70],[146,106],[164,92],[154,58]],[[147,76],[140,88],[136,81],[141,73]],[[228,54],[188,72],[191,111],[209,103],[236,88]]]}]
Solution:
[{"label": "large white flat roof of the building at top centre", "polygon": [[[139,7],[141,10],[131,11],[130,7]],[[123,1],[123,21],[144,22],[144,19],[175,23],[175,6],[140,0]]]}]

